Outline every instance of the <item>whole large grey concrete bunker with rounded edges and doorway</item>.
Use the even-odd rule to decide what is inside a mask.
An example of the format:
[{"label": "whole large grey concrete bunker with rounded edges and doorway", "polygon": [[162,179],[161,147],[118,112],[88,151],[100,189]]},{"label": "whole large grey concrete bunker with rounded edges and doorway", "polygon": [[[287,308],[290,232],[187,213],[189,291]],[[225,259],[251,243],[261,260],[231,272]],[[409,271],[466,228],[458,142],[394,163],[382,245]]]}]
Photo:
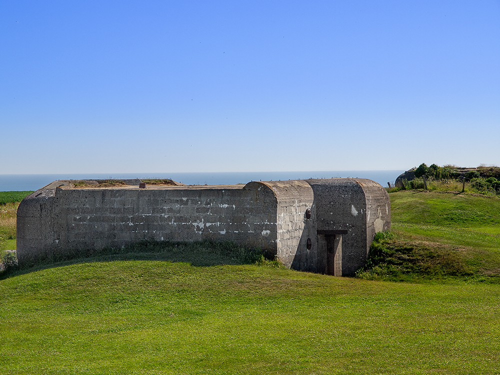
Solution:
[{"label": "whole large grey concrete bunker with rounded edges and doorway", "polygon": [[[234,241],[287,267],[352,275],[390,228],[386,190],[363,178],[186,186],[54,181],[17,210],[17,259],[30,266],[142,239]],[[141,187],[139,188],[139,183]]]}]

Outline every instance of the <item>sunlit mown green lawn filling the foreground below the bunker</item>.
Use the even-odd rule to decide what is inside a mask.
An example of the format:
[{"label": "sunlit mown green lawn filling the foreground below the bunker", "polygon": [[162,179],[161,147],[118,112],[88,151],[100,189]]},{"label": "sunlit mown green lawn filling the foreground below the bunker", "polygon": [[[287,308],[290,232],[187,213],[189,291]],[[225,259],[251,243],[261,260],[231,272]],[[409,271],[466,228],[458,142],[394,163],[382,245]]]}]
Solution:
[{"label": "sunlit mown green lawn filling the foreground below the bunker", "polygon": [[497,373],[500,290],[256,265],[67,265],[0,281],[0,372]]}]

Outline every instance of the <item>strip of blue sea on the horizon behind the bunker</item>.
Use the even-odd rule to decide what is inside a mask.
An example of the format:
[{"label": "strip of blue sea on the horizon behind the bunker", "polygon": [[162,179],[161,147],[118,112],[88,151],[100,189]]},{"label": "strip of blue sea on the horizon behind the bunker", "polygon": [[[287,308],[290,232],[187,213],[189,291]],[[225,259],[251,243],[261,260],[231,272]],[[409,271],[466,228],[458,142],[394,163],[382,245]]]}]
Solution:
[{"label": "strip of blue sea on the horizon behind the bunker", "polygon": [[368,178],[387,186],[404,170],[323,170],[295,172],[172,172],[172,173],[74,173],[74,174],[0,174],[0,191],[37,190],[58,179],[171,178],[187,185],[225,185],[249,181],[307,178]]}]

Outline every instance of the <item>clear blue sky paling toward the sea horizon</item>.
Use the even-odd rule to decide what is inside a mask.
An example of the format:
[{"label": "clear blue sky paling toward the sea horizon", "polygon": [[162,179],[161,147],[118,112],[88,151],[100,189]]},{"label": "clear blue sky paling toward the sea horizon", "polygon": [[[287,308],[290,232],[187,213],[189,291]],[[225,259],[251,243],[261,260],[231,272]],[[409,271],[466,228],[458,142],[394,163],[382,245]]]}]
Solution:
[{"label": "clear blue sky paling toward the sea horizon", "polygon": [[0,174],[500,164],[500,1],[0,1]]}]

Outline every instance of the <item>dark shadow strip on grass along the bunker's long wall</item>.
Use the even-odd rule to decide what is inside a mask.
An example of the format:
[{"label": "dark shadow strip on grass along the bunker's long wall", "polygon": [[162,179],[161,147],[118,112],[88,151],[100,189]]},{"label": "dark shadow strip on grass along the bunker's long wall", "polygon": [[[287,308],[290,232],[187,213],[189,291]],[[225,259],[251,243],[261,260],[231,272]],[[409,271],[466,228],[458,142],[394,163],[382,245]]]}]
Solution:
[{"label": "dark shadow strip on grass along the bunker's long wall", "polygon": [[83,250],[85,256],[61,257],[52,256],[32,266],[18,268],[10,264],[0,268],[0,279],[38,271],[41,269],[60,267],[77,263],[116,260],[154,260],[168,262],[184,262],[192,266],[237,265],[266,263],[278,266],[277,260],[265,250],[248,248],[234,242],[171,242],[144,240],[122,248],[103,248],[101,250]]}]

